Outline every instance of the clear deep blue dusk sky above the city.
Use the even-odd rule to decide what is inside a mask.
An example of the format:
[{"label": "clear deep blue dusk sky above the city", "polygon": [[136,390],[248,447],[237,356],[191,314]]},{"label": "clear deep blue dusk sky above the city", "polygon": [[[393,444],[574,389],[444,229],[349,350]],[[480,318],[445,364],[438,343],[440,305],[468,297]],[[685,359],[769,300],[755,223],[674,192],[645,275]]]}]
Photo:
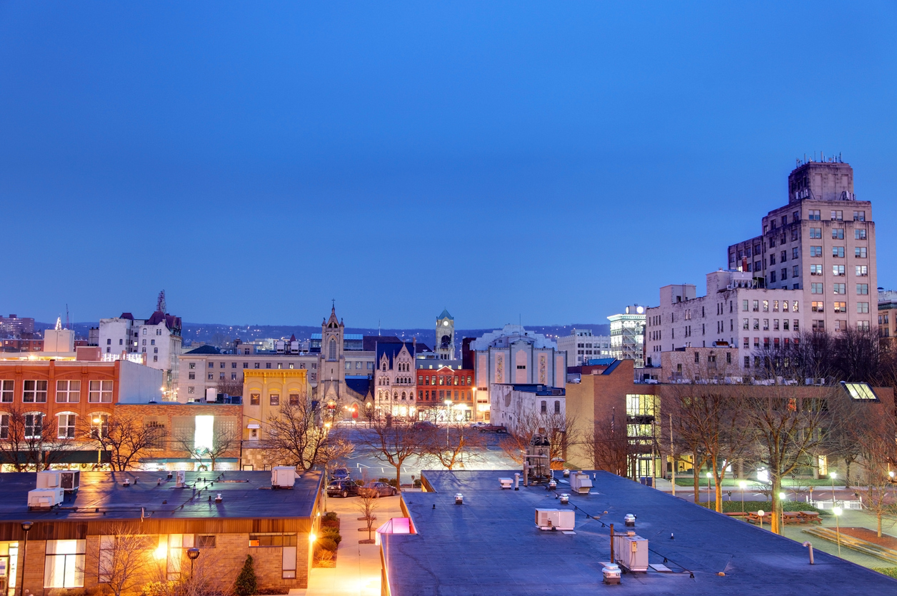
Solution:
[{"label": "clear deep blue dusk sky above the city", "polygon": [[0,2],[0,312],[605,322],[841,152],[897,239],[893,3]]}]

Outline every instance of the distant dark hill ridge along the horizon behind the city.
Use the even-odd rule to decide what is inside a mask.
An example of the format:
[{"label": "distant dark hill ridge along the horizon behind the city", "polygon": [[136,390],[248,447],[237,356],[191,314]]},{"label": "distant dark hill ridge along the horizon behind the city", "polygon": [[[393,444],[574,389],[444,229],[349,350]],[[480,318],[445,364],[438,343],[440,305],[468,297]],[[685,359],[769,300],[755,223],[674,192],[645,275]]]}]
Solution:
[{"label": "distant dark hill ridge along the horizon behind the city", "polygon": [[[52,329],[55,323],[35,323],[35,329]],[[91,327],[97,327],[99,323],[75,323],[72,325],[75,335],[79,338],[87,338]],[[570,329],[591,329],[596,335],[609,335],[609,324],[577,323],[569,325],[524,325],[527,330],[556,338],[561,335],[569,335]],[[460,341],[465,337],[480,337],[483,333],[501,329],[501,325],[488,329],[457,329],[456,337]],[[308,340],[312,333],[321,333],[320,325],[228,325],[216,323],[185,323],[182,330],[184,342],[203,341],[222,345],[239,337],[242,341],[254,341],[264,338],[282,338],[295,335],[298,340]],[[346,327],[345,333],[360,333],[361,335],[395,335],[400,338],[417,338],[431,348],[435,340],[433,329],[380,329],[371,327]]]}]

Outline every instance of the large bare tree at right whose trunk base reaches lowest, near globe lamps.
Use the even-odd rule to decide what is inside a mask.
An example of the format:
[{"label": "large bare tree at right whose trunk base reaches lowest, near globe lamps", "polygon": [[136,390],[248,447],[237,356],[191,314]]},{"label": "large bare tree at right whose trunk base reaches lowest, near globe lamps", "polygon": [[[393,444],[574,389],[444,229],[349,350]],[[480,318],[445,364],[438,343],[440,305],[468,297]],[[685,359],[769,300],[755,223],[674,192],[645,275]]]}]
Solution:
[{"label": "large bare tree at right whose trunk base reaches lowest, near globe lamps", "polygon": [[[759,388],[758,388],[759,389]],[[781,532],[782,478],[801,466],[811,464],[811,455],[821,446],[821,431],[830,420],[826,403],[832,402],[834,388],[825,397],[801,397],[794,388],[774,385],[767,391],[742,396],[745,434],[755,444],[755,462],[765,467],[772,484],[772,531]]]}]

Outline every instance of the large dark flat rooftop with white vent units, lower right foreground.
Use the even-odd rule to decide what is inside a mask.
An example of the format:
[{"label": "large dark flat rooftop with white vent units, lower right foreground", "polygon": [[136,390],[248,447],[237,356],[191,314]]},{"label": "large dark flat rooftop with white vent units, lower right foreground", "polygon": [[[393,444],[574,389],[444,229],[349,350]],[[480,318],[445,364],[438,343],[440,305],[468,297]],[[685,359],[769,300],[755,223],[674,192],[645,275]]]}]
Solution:
[{"label": "large dark flat rooftop with white vent units, lower right foreground", "polygon": [[[882,574],[819,550],[810,566],[807,549],[793,540],[608,472],[598,471],[592,493],[571,495],[570,505],[561,505],[544,485],[499,488],[499,478],[513,475],[508,470],[423,471],[434,492],[403,495],[417,533],[383,536],[389,593],[805,596],[897,591],[897,581]],[[562,472],[555,478],[556,492],[569,493]],[[458,492],[464,505],[455,505]],[[576,533],[538,530],[536,507],[574,509]],[[623,515],[630,513],[637,515],[636,533],[649,540],[649,564],[666,565],[672,573],[623,574],[621,585],[605,586],[607,524],[626,531]]]}]

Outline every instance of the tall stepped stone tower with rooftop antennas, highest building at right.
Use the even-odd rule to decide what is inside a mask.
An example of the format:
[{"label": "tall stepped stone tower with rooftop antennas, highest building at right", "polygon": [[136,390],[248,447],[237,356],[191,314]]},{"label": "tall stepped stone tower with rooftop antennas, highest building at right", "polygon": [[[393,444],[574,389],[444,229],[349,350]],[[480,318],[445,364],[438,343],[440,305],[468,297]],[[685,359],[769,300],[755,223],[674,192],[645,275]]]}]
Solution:
[{"label": "tall stepped stone tower with rooftop antennas, highest building at right", "polygon": [[840,158],[798,164],[788,176],[788,204],[762,218],[762,235],[729,246],[727,257],[729,269],[752,272],[762,287],[792,290],[807,331],[877,327],[872,203],[857,200],[853,168]]}]

